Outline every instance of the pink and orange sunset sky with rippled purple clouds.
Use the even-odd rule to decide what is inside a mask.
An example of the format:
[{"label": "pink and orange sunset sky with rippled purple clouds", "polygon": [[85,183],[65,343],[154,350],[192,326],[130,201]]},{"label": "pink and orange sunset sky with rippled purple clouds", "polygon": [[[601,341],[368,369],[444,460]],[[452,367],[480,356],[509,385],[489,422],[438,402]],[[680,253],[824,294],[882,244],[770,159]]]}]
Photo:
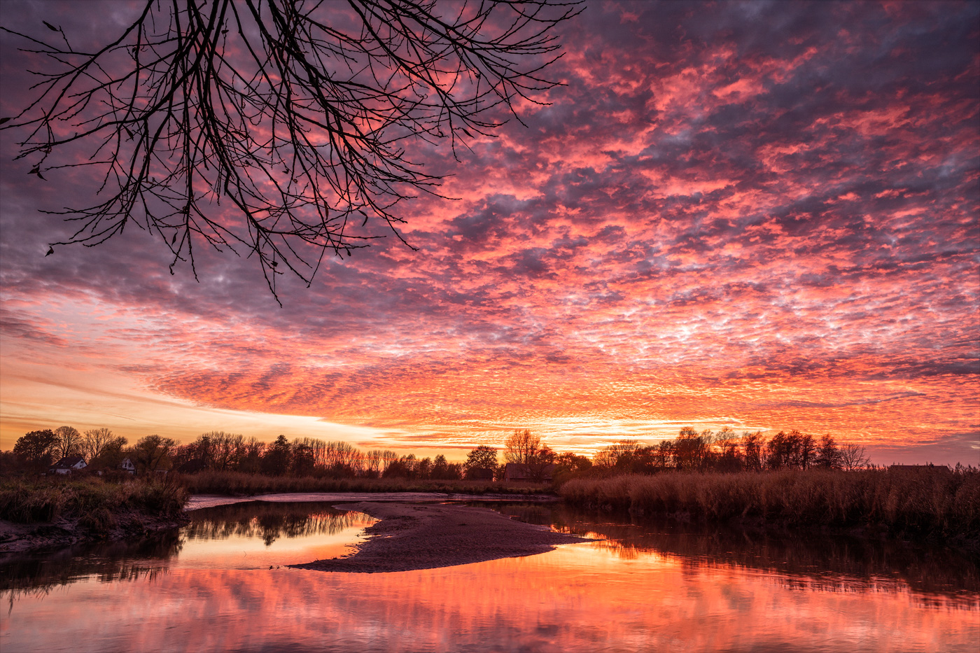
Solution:
[{"label": "pink and orange sunset sky with rippled purple clouds", "polygon": [[[131,11],[91,7],[0,25]],[[461,460],[515,428],[588,454],[728,426],[980,463],[980,3],[589,2],[559,32],[524,125],[412,150],[454,198],[403,206],[417,251],[372,241],[281,307],[254,260],[172,276],[135,228],[45,256],[69,226],[38,211],[91,179],[0,133],[0,448],[64,424]]]}]

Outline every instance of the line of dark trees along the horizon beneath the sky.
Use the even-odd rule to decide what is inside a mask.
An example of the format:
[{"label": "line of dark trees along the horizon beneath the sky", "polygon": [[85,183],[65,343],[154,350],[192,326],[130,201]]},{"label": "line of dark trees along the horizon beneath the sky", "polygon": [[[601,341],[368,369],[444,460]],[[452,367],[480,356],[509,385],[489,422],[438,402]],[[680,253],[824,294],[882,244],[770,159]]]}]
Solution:
[{"label": "line of dark trees along the horizon beneath the sky", "polygon": [[[622,440],[605,447],[591,459],[572,452],[557,452],[530,430],[515,430],[504,442],[504,461],[498,449],[480,445],[470,450],[466,461],[451,463],[444,455],[417,458],[399,456],[388,449],[362,451],[349,442],[300,437],[290,441],[279,435],[272,442],[237,433],[211,431],[196,440],[178,445],[160,435],[147,435],[129,446],[125,437],[108,428],[83,433],[73,427],[35,430],[17,440],[12,452],[4,454],[5,468],[40,472],[63,457],[81,456],[91,470],[118,469],[125,458],[140,472],[175,470],[241,472],[273,477],[413,478],[497,480],[504,477],[507,463],[522,466],[531,480],[556,473],[654,474],[666,470],[763,471],[857,470],[867,467],[864,448],[838,443],[831,435],[813,437],[799,430],[779,431],[765,438],[761,431],[737,434],[729,427],[697,431],[683,427],[673,439],[657,444]],[[480,471],[480,474],[476,474]]]}]

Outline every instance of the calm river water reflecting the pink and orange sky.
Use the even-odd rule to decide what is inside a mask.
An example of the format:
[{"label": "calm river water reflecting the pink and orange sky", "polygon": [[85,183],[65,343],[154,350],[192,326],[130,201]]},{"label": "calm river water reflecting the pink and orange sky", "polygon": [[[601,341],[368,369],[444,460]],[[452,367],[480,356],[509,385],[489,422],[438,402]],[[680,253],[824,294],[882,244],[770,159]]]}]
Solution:
[{"label": "calm river water reflecting the pink and orange sky", "polygon": [[494,507],[602,541],[322,573],[285,565],[345,555],[371,518],[324,503],[207,508],[152,541],[0,561],[0,649],[975,652],[980,641],[980,573],[949,551]]}]

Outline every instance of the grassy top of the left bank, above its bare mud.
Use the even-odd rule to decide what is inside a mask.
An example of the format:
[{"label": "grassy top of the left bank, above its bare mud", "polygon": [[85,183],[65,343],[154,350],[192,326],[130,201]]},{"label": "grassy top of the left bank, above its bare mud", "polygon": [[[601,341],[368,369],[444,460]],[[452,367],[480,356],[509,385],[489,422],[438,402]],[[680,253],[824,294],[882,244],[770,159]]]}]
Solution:
[{"label": "grassy top of the left bank, above its bare mud", "polygon": [[74,539],[143,532],[181,521],[188,492],[163,479],[0,479],[0,520],[56,523]]}]

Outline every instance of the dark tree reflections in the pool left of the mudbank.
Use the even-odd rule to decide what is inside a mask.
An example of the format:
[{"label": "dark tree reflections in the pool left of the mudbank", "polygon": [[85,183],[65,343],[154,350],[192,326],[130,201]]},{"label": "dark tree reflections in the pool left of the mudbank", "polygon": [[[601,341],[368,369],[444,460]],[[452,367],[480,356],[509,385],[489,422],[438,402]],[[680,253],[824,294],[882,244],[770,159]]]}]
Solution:
[{"label": "dark tree reflections in the pool left of the mudbank", "polygon": [[[261,537],[270,546],[279,537],[333,535],[363,522],[360,513],[336,510],[329,503],[268,503],[249,501],[190,513],[187,539]],[[369,519],[369,518],[368,518]]]}]

